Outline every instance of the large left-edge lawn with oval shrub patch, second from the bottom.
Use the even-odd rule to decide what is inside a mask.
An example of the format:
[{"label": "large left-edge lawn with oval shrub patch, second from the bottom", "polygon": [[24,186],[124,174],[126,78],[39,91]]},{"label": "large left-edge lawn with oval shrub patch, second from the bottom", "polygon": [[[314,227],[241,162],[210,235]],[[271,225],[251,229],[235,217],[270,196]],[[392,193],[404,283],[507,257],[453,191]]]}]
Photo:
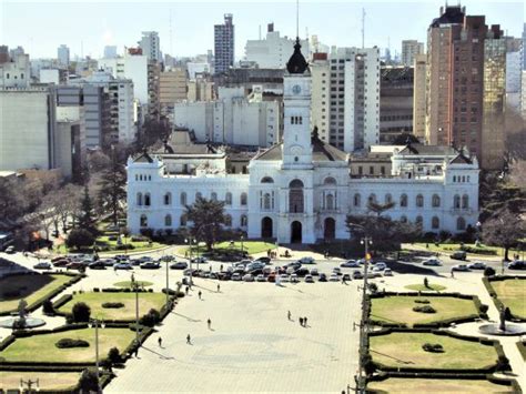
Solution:
[{"label": "large left-edge lawn with oval shrub patch, second from the bottom", "polygon": [[[54,344],[61,339],[84,340],[89,347],[59,348]],[[99,329],[99,354],[105,358],[111,347],[123,351],[135,333],[129,329]],[[17,339],[0,352],[0,357],[9,362],[95,362],[95,329],[71,330],[53,334]]]}]

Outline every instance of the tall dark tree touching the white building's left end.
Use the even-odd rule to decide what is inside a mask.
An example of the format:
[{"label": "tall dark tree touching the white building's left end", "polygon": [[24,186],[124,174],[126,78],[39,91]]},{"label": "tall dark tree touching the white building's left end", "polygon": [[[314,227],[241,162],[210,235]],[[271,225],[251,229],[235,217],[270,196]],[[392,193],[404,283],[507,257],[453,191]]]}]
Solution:
[{"label": "tall dark tree touching the white building's left end", "polygon": [[127,172],[115,154],[112,155],[110,165],[102,171],[99,186],[99,203],[102,209],[111,212],[113,224],[117,226],[121,202],[127,196]]}]

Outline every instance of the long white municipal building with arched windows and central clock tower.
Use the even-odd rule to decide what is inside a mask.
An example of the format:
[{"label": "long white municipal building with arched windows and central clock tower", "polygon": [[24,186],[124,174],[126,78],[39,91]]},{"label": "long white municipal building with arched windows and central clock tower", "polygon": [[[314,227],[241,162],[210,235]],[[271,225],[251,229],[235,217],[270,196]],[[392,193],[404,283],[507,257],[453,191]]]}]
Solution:
[{"label": "long white municipal building with arched windows and central clock tower", "polygon": [[[172,171],[170,155],[129,159],[132,233],[191,225],[185,205],[199,196],[225,202],[226,226],[246,231],[249,239],[280,243],[348,239],[346,216],[367,214],[368,201],[395,202],[385,214],[421,223],[423,232],[458,233],[475,226],[476,159],[449,147],[408,144],[394,151],[390,175],[352,178],[348,154],[322,142],[311,125],[311,74],[299,42],[286,69],[283,141],[252,158],[249,173],[227,173],[225,166],[206,162],[181,174]],[[182,158],[192,160],[191,154]]]}]

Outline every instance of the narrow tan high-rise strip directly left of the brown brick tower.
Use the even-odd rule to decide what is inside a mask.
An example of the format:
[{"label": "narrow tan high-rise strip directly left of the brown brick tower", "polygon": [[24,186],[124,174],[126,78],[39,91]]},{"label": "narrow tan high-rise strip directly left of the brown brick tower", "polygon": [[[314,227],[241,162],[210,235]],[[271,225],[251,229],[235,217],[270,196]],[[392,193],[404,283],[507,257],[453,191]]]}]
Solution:
[{"label": "narrow tan high-rise strip directly left of the brown brick tower", "polygon": [[425,112],[426,112],[426,54],[417,54],[414,62],[413,87],[413,134],[425,141]]}]

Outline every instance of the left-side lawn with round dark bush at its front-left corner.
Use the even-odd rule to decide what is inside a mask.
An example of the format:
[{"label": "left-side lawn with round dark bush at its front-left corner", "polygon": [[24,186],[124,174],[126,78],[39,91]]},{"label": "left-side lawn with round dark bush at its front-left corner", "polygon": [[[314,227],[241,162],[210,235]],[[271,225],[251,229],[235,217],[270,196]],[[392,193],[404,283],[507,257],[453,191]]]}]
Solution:
[{"label": "left-side lawn with round dark bush at its front-left corner", "polygon": [[[102,320],[135,320],[135,293],[77,293],[73,299],[59,307],[59,312],[71,313],[71,309],[78,302],[85,302],[91,307],[91,316]],[[124,307],[105,309],[105,302],[121,302]],[[158,311],[166,302],[166,295],[162,293],[139,293],[139,315],[142,316],[151,309]]]}]

